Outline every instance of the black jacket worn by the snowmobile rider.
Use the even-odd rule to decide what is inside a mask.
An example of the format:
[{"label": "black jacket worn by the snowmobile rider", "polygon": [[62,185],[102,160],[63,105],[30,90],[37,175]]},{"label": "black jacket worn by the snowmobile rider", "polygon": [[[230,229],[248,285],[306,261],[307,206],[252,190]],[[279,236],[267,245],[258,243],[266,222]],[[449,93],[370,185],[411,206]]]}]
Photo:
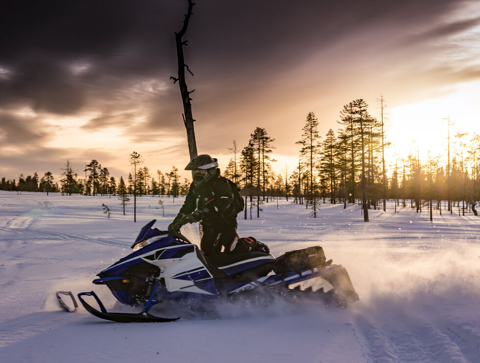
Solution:
[{"label": "black jacket worn by the snowmobile rider", "polygon": [[195,187],[190,185],[185,203],[180,208],[181,213],[190,214],[196,209],[200,212],[200,220],[203,225],[217,225],[221,222],[237,223],[237,212],[232,204],[234,199],[232,186],[228,179],[220,175],[216,170],[216,177],[205,184]]}]

